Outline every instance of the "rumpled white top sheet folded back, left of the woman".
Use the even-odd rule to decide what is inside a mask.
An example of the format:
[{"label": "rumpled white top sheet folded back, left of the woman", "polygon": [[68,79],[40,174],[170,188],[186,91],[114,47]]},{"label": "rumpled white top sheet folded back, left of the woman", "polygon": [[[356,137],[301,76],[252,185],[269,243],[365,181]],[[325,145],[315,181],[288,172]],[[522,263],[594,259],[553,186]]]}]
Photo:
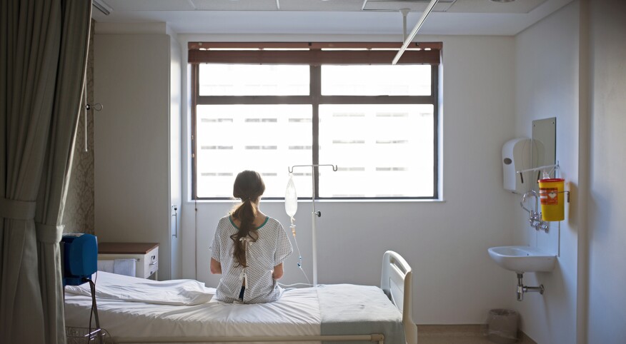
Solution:
[{"label": "rumpled white top sheet folded back, left of the woman", "polygon": [[[96,298],[154,303],[157,305],[202,305],[211,300],[214,288],[197,280],[146,280],[144,278],[98,272]],[[67,285],[66,293],[91,296],[89,283]]]}]

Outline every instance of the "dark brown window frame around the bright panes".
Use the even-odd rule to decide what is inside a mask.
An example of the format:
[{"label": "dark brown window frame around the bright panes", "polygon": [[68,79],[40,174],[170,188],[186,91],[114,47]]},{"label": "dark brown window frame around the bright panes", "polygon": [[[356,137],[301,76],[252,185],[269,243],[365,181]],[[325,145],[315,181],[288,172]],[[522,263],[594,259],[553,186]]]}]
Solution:
[{"label": "dark brown window frame around the bright panes", "polygon": [[[434,52],[437,54],[437,58],[441,54],[441,43],[414,43],[415,46],[427,46],[434,47]],[[211,44],[212,46],[224,47],[226,49],[237,49],[237,48],[248,48],[254,47],[256,49],[264,49],[264,48],[274,48],[274,47],[284,47],[288,48],[299,48],[302,46],[300,43],[292,43],[292,44],[237,44],[237,43],[218,43]],[[328,44],[317,44],[321,46],[327,46]],[[354,46],[372,46],[385,48],[389,46],[389,44],[331,44],[332,46],[340,46],[347,47],[350,49]],[[227,200],[230,198],[224,197],[198,197],[197,195],[197,106],[199,105],[228,105],[228,104],[310,104],[312,105],[312,164],[319,164],[319,105],[320,104],[354,104],[354,103],[370,103],[370,104],[418,104],[418,105],[432,105],[433,106],[433,192],[432,196],[402,196],[402,197],[320,197],[319,196],[319,171],[317,167],[314,167],[314,198],[316,200],[436,200],[439,198],[439,63],[434,63],[432,56],[434,54],[427,54],[428,60],[424,59],[424,61],[428,61],[428,63],[421,64],[429,64],[431,67],[431,83],[430,83],[430,95],[429,96],[323,96],[321,94],[321,66],[317,63],[309,64],[309,95],[308,96],[200,96],[199,95],[199,64],[202,62],[198,61],[197,56],[192,57],[192,51],[198,51],[198,47],[203,46],[203,44],[190,43],[190,56],[189,56],[189,65],[191,67],[191,137],[190,137],[190,147],[191,147],[191,157],[192,157],[192,200],[197,201],[209,201],[209,200]],[[208,46],[208,44],[204,44],[204,46]],[[316,46],[314,44],[307,44],[310,48],[311,46]],[[391,44],[391,46],[397,46],[397,44]],[[192,50],[193,49],[193,50]],[[369,49],[369,48],[367,48]],[[432,48],[427,48],[427,51],[431,51]],[[204,50],[204,49],[203,49]],[[317,51],[317,50],[316,50]],[[299,53],[302,51],[299,51]],[[319,51],[317,51],[319,54]],[[390,51],[393,55],[396,51]],[[425,52],[422,50],[422,52]],[[353,54],[358,54],[357,51],[353,51]],[[405,53],[406,54],[406,53]],[[287,54],[288,55],[288,54]],[[249,57],[248,57],[249,58]],[[359,59],[357,59],[359,61]],[[389,63],[391,59],[387,61]],[[224,62],[222,62],[224,63]],[[243,61],[237,61],[236,64],[245,63]],[[250,64],[251,62],[248,62]],[[270,62],[271,63],[271,62]],[[258,64],[258,62],[257,62]],[[289,64],[289,63],[277,63],[277,64]],[[291,64],[303,64],[299,61],[292,61]],[[322,63],[324,64],[324,63]],[[352,63],[352,64],[364,64],[362,61],[360,63]],[[408,62],[408,64],[420,64],[414,62]],[[310,197],[299,197],[299,199],[308,199]],[[283,200],[284,197],[268,197],[264,199],[274,199],[274,200]]]}]

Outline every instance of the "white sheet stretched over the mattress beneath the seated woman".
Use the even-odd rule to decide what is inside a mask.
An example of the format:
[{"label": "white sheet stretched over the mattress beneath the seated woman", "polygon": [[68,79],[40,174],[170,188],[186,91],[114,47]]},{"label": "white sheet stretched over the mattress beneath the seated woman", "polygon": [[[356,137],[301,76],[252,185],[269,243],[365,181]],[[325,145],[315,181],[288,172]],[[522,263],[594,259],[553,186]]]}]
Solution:
[{"label": "white sheet stretched over the mattress beneath the seated woman", "polygon": [[[99,272],[100,283],[140,278]],[[116,282],[116,283],[117,283]],[[214,288],[205,288],[214,293]],[[97,298],[101,328],[113,337],[320,335],[315,288],[288,290],[274,303],[237,305],[210,300],[200,305],[161,305]],[[66,326],[89,327],[91,296],[65,293]],[[92,327],[94,323],[92,321]],[[312,342],[314,343],[314,342]]]}]

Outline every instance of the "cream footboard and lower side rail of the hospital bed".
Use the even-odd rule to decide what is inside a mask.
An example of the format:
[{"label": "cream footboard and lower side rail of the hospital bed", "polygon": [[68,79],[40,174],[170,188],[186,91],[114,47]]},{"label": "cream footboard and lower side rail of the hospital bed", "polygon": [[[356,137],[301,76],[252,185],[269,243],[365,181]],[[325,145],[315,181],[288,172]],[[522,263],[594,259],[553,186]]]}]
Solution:
[{"label": "cream footboard and lower side rail of the hospital bed", "polygon": [[[380,288],[402,313],[402,325],[407,344],[417,343],[417,325],[412,312],[412,269],[402,256],[387,251],[382,257]],[[289,336],[245,336],[245,337],[160,337],[131,338],[116,337],[114,343],[247,343],[247,342],[303,342],[303,341],[370,341],[384,343],[384,335],[289,335]]]}]

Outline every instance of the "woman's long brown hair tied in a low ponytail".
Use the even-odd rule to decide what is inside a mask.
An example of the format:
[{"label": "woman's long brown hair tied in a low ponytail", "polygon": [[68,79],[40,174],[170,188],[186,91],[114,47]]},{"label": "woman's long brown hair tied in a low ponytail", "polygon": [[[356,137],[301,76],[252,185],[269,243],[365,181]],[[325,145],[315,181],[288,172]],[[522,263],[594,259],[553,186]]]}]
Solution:
[{"label": "woman's long brown hair tied in a low ponytail", "polygon": [[259,209],[257,208],[257,200],[265,191],[265,183],[261,175],[255,171],[243,171],[237,174],[235,178],[232,196],[241,198],[242,203],[239,204],[231,215],[234,219],[239,220],[239,231],[234,233],[230,238],[234,242],[233,256],[237,263],[246,267],[246,251],[245,243],[242,238],[249,237],[252,242],[257,241],[259,233],[254,228],[254,219],[257,217]]}]

